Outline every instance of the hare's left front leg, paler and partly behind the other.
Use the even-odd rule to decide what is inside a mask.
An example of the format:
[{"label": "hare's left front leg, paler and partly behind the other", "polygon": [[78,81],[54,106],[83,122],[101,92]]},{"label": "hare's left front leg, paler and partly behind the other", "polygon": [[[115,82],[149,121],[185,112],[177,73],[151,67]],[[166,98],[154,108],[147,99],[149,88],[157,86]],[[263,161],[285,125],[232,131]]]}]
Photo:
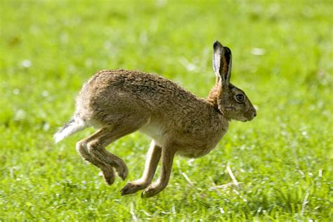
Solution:
[{"label": "hare's left front leg, paler and partly behind the other", "polygon": [[155,141],[150,143],[150,148],[147,153],[147,159],[145,161],[145,171],[143,171],[143,176],[136,180],[127,183],[124,188],[122,188],[122,195],[129,195],[138,190],[143,190],[152,183],[152,178],[154,177],[157,164],[161,158],[162,148],[155,144]]}]

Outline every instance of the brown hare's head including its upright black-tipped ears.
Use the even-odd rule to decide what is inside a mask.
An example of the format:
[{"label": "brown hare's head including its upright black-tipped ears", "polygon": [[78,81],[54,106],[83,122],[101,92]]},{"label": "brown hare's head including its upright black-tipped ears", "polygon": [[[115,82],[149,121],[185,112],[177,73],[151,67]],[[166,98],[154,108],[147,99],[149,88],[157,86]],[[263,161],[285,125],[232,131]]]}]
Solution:
[{"label": "brown hare's head including its upright black-tipped ears", "polygon": [[213,67],[217,78],[218,110],[227,119],[250,121],[256,116],[256,109],[244,91],[230,83],[231,62],[230,49],[215,41]]}]

